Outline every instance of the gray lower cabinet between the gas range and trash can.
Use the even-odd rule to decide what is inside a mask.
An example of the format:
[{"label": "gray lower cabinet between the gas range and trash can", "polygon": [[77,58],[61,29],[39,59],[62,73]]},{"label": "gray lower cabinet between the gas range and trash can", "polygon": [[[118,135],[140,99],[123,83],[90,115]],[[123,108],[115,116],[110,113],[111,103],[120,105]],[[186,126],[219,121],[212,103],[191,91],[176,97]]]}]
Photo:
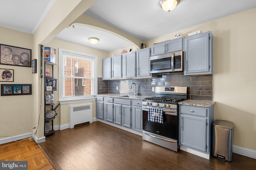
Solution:
[{"label": "gray lower cabinet between the gas range and trash can", "polygon": [[211,146],[211,126],[213,106],[196,107],[180,105],[179,143],[183,147],[209,153]]}]

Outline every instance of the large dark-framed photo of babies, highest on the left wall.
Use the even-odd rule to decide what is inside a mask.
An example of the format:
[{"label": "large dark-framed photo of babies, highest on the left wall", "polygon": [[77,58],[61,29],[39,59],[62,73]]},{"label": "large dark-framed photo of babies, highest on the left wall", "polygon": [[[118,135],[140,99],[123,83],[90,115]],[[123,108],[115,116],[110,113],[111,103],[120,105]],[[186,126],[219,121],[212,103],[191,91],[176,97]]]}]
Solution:
[{"label": "large dark-framed photo of babies, highest on the left wall", "polygon": [[31,67],[31,49],[0,44],[0,64]]}]

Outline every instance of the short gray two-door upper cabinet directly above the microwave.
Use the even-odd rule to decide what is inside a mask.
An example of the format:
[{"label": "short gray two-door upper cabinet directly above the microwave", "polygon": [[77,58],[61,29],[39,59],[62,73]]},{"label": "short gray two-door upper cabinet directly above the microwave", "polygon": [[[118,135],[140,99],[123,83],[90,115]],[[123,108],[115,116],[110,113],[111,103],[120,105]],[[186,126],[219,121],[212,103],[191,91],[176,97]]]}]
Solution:
[{"label": "short gray two-door upper cabinet directly above the microwave", "polygon": [[183,37],[152,45],[152,56],[183,50]]}]

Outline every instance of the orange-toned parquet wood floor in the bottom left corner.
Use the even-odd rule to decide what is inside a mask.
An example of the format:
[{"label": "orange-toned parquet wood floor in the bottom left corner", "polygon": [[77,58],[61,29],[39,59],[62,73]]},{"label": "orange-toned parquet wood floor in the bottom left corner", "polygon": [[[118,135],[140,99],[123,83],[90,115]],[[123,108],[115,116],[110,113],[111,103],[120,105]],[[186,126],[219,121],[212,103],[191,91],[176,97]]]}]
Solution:
[{"label": "orange-toned parquet wood floor in the bottom left corner", "polygon": [[28,161],[28,170],[54,170],[35,141],[24,140],[0,145],[0,160]]}]

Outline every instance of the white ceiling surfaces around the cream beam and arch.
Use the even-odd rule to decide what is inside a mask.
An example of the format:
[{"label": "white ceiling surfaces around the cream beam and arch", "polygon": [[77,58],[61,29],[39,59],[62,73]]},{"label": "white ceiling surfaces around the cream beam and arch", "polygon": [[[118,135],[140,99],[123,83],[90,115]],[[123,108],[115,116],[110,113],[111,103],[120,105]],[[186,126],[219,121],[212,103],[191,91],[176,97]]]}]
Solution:
[{"label": "white ceiling surfaces around the cream beam and arch", "polygon": [[[2,7],[12,9],[1,8],[0,26],[34,33],[54,2],[55,0],[0,0]],[[165,12],[160,8],[159,2],[160,0],[98,0],[84,14],[146,41],[256,7],[256,0],[180,0],[173,11]],[[98,37],[100,41],[92,45],[88,41],[89,37]],[[130,45],[110,33],[81,25],[65,28],[56,38],[107,52]]]}]

